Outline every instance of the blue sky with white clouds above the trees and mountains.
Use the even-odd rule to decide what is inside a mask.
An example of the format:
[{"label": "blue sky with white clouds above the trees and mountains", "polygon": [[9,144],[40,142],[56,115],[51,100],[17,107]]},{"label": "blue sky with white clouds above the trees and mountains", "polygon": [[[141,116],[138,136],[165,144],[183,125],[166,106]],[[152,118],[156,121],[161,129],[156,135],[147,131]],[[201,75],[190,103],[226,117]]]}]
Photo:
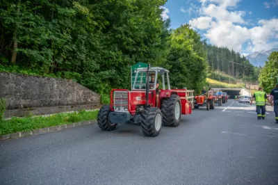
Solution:
[{"label": "blue sky with white clouds above the trees and mountains", "polygon": [[190,24],[213,45],[243,55],[278,47],[278,0],[168,0],[171,28]]}]

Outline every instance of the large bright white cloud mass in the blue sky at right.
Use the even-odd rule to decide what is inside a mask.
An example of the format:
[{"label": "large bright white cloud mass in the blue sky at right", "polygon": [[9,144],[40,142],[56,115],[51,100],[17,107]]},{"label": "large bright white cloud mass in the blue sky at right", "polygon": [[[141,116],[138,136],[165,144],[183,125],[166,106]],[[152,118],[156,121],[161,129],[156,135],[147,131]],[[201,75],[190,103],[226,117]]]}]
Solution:
[{"label": "large bright white cloud mass in the blue sky at right", "polygon": [[[191,19],[189,24],[194,29],[205,30],[204,36],[213,45],[243,51],[243,44],[248,42],[247,52],[261,51],[277,47],[278,19],[261,19],[258,26],[247,29],[250,20],[245,20],[244,11],[229,11],[228,6],[236,6],[239,0],[199,0],[202,2],[200,17]],[[278,0],[277,1],[278,4]],[[218,3],[215,5],[213,3]],[[251,12],[249,12],[251,14]],[[239,24],[239,25],[236,25]]]}]

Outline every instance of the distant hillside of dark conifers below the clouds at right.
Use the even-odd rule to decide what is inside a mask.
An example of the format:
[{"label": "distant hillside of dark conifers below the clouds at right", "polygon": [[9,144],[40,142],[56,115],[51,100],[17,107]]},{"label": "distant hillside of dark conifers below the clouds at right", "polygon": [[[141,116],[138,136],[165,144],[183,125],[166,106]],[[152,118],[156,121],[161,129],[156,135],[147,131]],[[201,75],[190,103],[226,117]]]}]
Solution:
[{"label": "distant hillside of dark conifers below the clouds at right", "polygon": [[[208,45],[206,42],[204,42],[204,49],[210,66],[209,71],[218,70],[235,79],[243,79],[243,81],[254,82],[258,80],[261,67],[254,67],[247,58],[240,56],[238,52],[227,47]],[[215,78],[218,79],[218,77]]]}]

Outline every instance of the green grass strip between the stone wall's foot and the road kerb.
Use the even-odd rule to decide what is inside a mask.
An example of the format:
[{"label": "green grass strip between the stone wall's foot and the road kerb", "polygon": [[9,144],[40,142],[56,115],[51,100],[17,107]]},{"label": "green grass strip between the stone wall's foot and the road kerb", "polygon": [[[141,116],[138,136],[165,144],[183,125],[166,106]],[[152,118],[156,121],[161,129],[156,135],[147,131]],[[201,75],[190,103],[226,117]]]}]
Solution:
[{"label": "green grass strip between the stone wall's foot and the road kerb", "polygon": [[89,120],[97,120],[99,111],[79,111],[74,113],[58,113],[48,117],[35,116],[24,118],[11,118],[0,121],[0,136],[12,134],[18,131],[32,131],[46,127],[54,127],[61,124],[71,124]]}]

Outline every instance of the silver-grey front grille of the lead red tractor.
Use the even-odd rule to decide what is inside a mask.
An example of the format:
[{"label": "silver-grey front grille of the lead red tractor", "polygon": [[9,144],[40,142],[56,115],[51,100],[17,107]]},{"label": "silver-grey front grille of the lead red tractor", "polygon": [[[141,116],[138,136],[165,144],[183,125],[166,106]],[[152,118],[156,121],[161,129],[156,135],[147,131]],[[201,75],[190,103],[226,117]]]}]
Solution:
[{"label": "silver-grey front grille of the lead red tractor", "polygon": [[129,112],[129,96],[127,91],[114,91],[115,112]]}]

